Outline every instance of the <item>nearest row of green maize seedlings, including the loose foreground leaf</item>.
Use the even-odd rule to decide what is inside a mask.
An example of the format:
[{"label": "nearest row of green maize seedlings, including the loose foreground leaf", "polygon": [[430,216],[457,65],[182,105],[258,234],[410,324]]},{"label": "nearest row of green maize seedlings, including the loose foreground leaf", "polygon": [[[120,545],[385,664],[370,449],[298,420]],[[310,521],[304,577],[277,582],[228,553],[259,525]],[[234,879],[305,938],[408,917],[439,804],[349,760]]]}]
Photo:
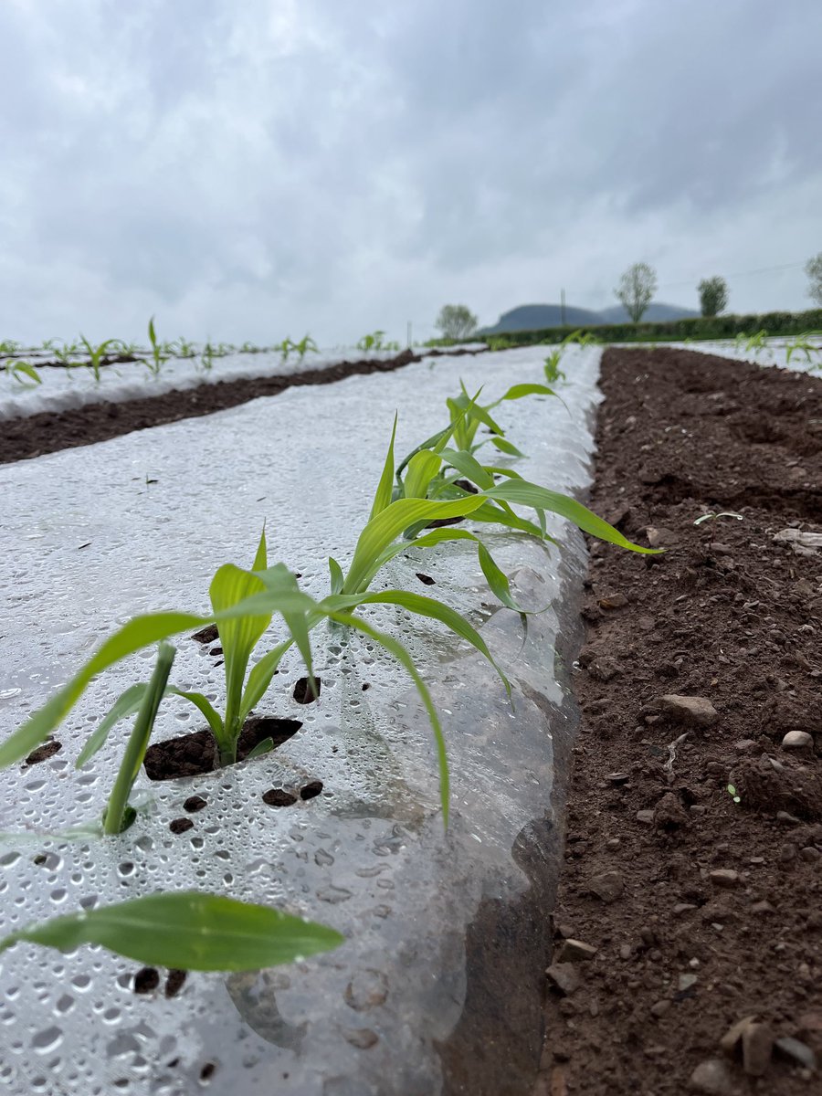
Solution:
[{"label": "nearest row of green maize seedlings, including the loose foreground leaf", "polygon": [[[555,355],[546,359],[545,369],[546,379],[551,383],[562,376],[559,357]],[[545,541],[552,539],[547,533],[546,515],[553,513],[621,548],[651,551],[627,540],[574,499],[530,482],[510,467],[493,461],[483,464],[478,456],[488,444],[509,457],[522,457],[496,422],[495,409],[503,402],[530,396],[553,397],[552,388],[518,384],[490,403],[481,403],[480,396],[480,391],[469,395],[461,385],[460,391],[446,401],[447,423],[399,461],[395,457],[395,418],[368,520],[356,539],[347,569],[329,556],[329,592],[324,597],[317,600],[300,589],[298,576],[285,563],[269,563],[263,529],[250,568],[225,563],[217,569],[208,591],[209,614],[167,610],[130,619],[103,642],[67,685],[0,744],[0,768],[20,762],[45,742],[99,674],[135,652],[159,644],[150,681],[134,682],[123,692],[90,734],[76,763],[78,767],[85,764],[104,745],[117,722],[135,717],[105,812],[96,825],[101,836],[115,836],[138,824],[129,797],[164,697],[182,697],[194,705],[214,737],[218,765],[233,764],[247,718],[269,692],[277,667],[293,647],[305,663],[308,688],[317,695],[313,646],[318,626],[328,623],[332,632],[353,629],[380,644],[413,681],[436,743],[443,823],[447,826],[449,770],[439,715],[407,648],[393,636],[375,628],[357,610],[372,604],[397,605],[422,618],[439,621],[483,655],[509,697],[511,685],[482,637],[464,616],[426,595],[399,589],[374,591],[372,585],[377,574],[411,547],[434,549],[448,543],[468,541],[476,547],[480,568],[496,598],[524,616],[525,609],[513,596],[509,578],[483,537],[460,527],[463,518],[470,516],[475,525],[501,525]],[[487,433],[478,441],[480,427]],[[522,516],[515,506],[528,507],[533,516]],[[255,647],[275,619],[277,641],[252,663]],[[221,710],[203,694],[180,689],[170,682],[175,651],[169,640],[207,626],[216,626],[224,652]],[[259,743],[253,753],[263,754],[272,749],[274,742],[269,739]],[[24,927],[0,940],[0,950],[20,940],[62,950],[95,943],[149,964],[243,970],[326,950],[341,943],[342,937],[331,928],[267,906],[185,891],[151,894]]]}]

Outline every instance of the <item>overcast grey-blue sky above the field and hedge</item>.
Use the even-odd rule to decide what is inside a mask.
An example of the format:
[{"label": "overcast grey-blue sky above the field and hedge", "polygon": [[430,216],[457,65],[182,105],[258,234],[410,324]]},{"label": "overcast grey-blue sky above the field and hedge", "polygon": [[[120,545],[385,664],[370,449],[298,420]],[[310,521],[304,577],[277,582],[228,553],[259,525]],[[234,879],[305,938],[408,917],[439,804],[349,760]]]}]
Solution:
[{"label": "overcast grey-blue sky above the field and hedge", "polygon": [[822,0],[0,0],[0,339],[426,338],[639,260],[811,307]]}]

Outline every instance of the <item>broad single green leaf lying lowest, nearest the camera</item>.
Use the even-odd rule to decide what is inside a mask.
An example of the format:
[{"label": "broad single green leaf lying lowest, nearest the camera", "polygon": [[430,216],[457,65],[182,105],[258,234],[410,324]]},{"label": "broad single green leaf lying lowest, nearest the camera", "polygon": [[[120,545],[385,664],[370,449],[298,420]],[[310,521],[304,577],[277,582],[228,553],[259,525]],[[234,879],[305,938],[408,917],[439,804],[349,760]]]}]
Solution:
[{"label": "broad single green leaf lying lowest, nearest the camera", "polygon": [[0,951],[21,940],[60,951],[99,944],[151,967],[240,971],[328,951],[343,937],[265,905],[182,891],[55,917],[4,937]]}]

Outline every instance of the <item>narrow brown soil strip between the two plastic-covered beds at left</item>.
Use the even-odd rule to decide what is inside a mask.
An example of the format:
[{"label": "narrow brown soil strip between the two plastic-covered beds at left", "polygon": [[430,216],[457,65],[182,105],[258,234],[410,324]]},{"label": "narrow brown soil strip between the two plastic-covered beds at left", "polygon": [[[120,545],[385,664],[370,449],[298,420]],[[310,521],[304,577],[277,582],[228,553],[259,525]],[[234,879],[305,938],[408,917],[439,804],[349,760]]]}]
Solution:
[{"label": "narrow brown soil strip between the two plastic-covered beds at left", "polygon": [[[44,411],[25,419],[3,422],[0,432],[0,464],[57,453],[78,445],[106,442],[135,430],[160,426],[225,411],[261,396],[276,396],[300,385],[330,385],[356,374],[390,373],[422,357],[443,354],[461,356],[481,354],[482,350],[426,351],[424,355],[407,350],[385,362],[341,362],[324,369],[306,369],[287,377],[253,377],[250,380],[219,380],[185,391],[165,392],[145,399],[122,402],[89,403],[70,411]],[[39,366],[38,366],[39,367]]]}]

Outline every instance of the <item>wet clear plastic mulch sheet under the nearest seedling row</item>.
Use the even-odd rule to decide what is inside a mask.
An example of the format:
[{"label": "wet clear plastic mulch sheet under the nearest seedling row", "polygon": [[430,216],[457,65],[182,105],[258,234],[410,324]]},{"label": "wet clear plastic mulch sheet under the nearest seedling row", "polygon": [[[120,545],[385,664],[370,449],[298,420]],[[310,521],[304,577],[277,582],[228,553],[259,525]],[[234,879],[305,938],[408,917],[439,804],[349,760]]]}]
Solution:
[{"label": "wet clear plastic mulch sheet under the nearest seedling row", "polygon": [[[345,566],[367,517],[395,409],[402,455],[446,421],[445,398],[460,377],[494,399],[512,384],[543,380],[543,357],[534,347],[439,358],[0,469],[8,574],[0,733],[43,704],[117,624],[152,609],[205,609],[214,570],[250,566],[263,520],[270,561],[284,560],[322,595],[326,557]],[[562,366],[568,410],[528,398],[495,413],[529,455],[515,467],[572,492],[587,482],[598,351],[570,351]],[[18,945],[0,957],[0,1092],[527,1091],[541,1043],[559,856],[555,756],[576,720],[556,648],[578,639],[584,573],[582,537],[560,522],[555,532],[561,551],[483,527],[515,574],[515,596],[550,606],[528,618],[527,636],[516,614],[495,605],[476,552],[459,544],[413,549],[375,583],[465,613],[514,684],[512,710],[484,660],[446,629],[396,609],[367,612],[409,647],[443,717],[447,834],[415,690],[380,651],[324,628],[315,632],[320,699],[294,700],[304,673],[295,658],[258,708],[299,719],[302,729],[275,753],[209,776],[170,785],[140,777],[142,812],[118,838],[44,834],[100,815],[126,724],[84,769],[76,772],[73,760],[114,697],[150,673],[150,653],[89,689],[58,732],[58,754],[0,773],[0,829],[10,834],[0,843],[3,934],[83,905],[197,888],[281,906],[347,938],[290,967],[191,973],[171,1000],[162,981],[153,994],[135,995],[138,964],[105,951],[64,957]],[[435,585],[421,585],[416,572]],[[266,636],[260,653],[276,638]],[[220,703],[218,659],[185,636],[176,646],[174,683]],[[168,701],[155,738],[199,726],[183,700]],[[272,788],[298,791],[313,780],[323,785],[315,798],[297,795],[282,808],[263,801]],[[206,807],[190,815],[192,829],[172,834],[170,822],[195,794]]]}]

